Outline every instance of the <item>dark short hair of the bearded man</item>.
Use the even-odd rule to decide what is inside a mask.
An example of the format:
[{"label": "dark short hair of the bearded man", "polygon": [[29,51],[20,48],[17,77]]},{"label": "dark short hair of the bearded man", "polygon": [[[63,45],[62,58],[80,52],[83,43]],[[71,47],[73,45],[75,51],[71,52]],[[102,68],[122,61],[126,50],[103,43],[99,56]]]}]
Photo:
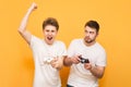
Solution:
[{"label": "dark short hair of the bearded man", "polygon": [[86,26],[88,26],[91,28],[95,28],[97,33],[99,30],[99,24],[96,21],[88,21],[88,22],[86,22],[84,27],[86,27]]}]

